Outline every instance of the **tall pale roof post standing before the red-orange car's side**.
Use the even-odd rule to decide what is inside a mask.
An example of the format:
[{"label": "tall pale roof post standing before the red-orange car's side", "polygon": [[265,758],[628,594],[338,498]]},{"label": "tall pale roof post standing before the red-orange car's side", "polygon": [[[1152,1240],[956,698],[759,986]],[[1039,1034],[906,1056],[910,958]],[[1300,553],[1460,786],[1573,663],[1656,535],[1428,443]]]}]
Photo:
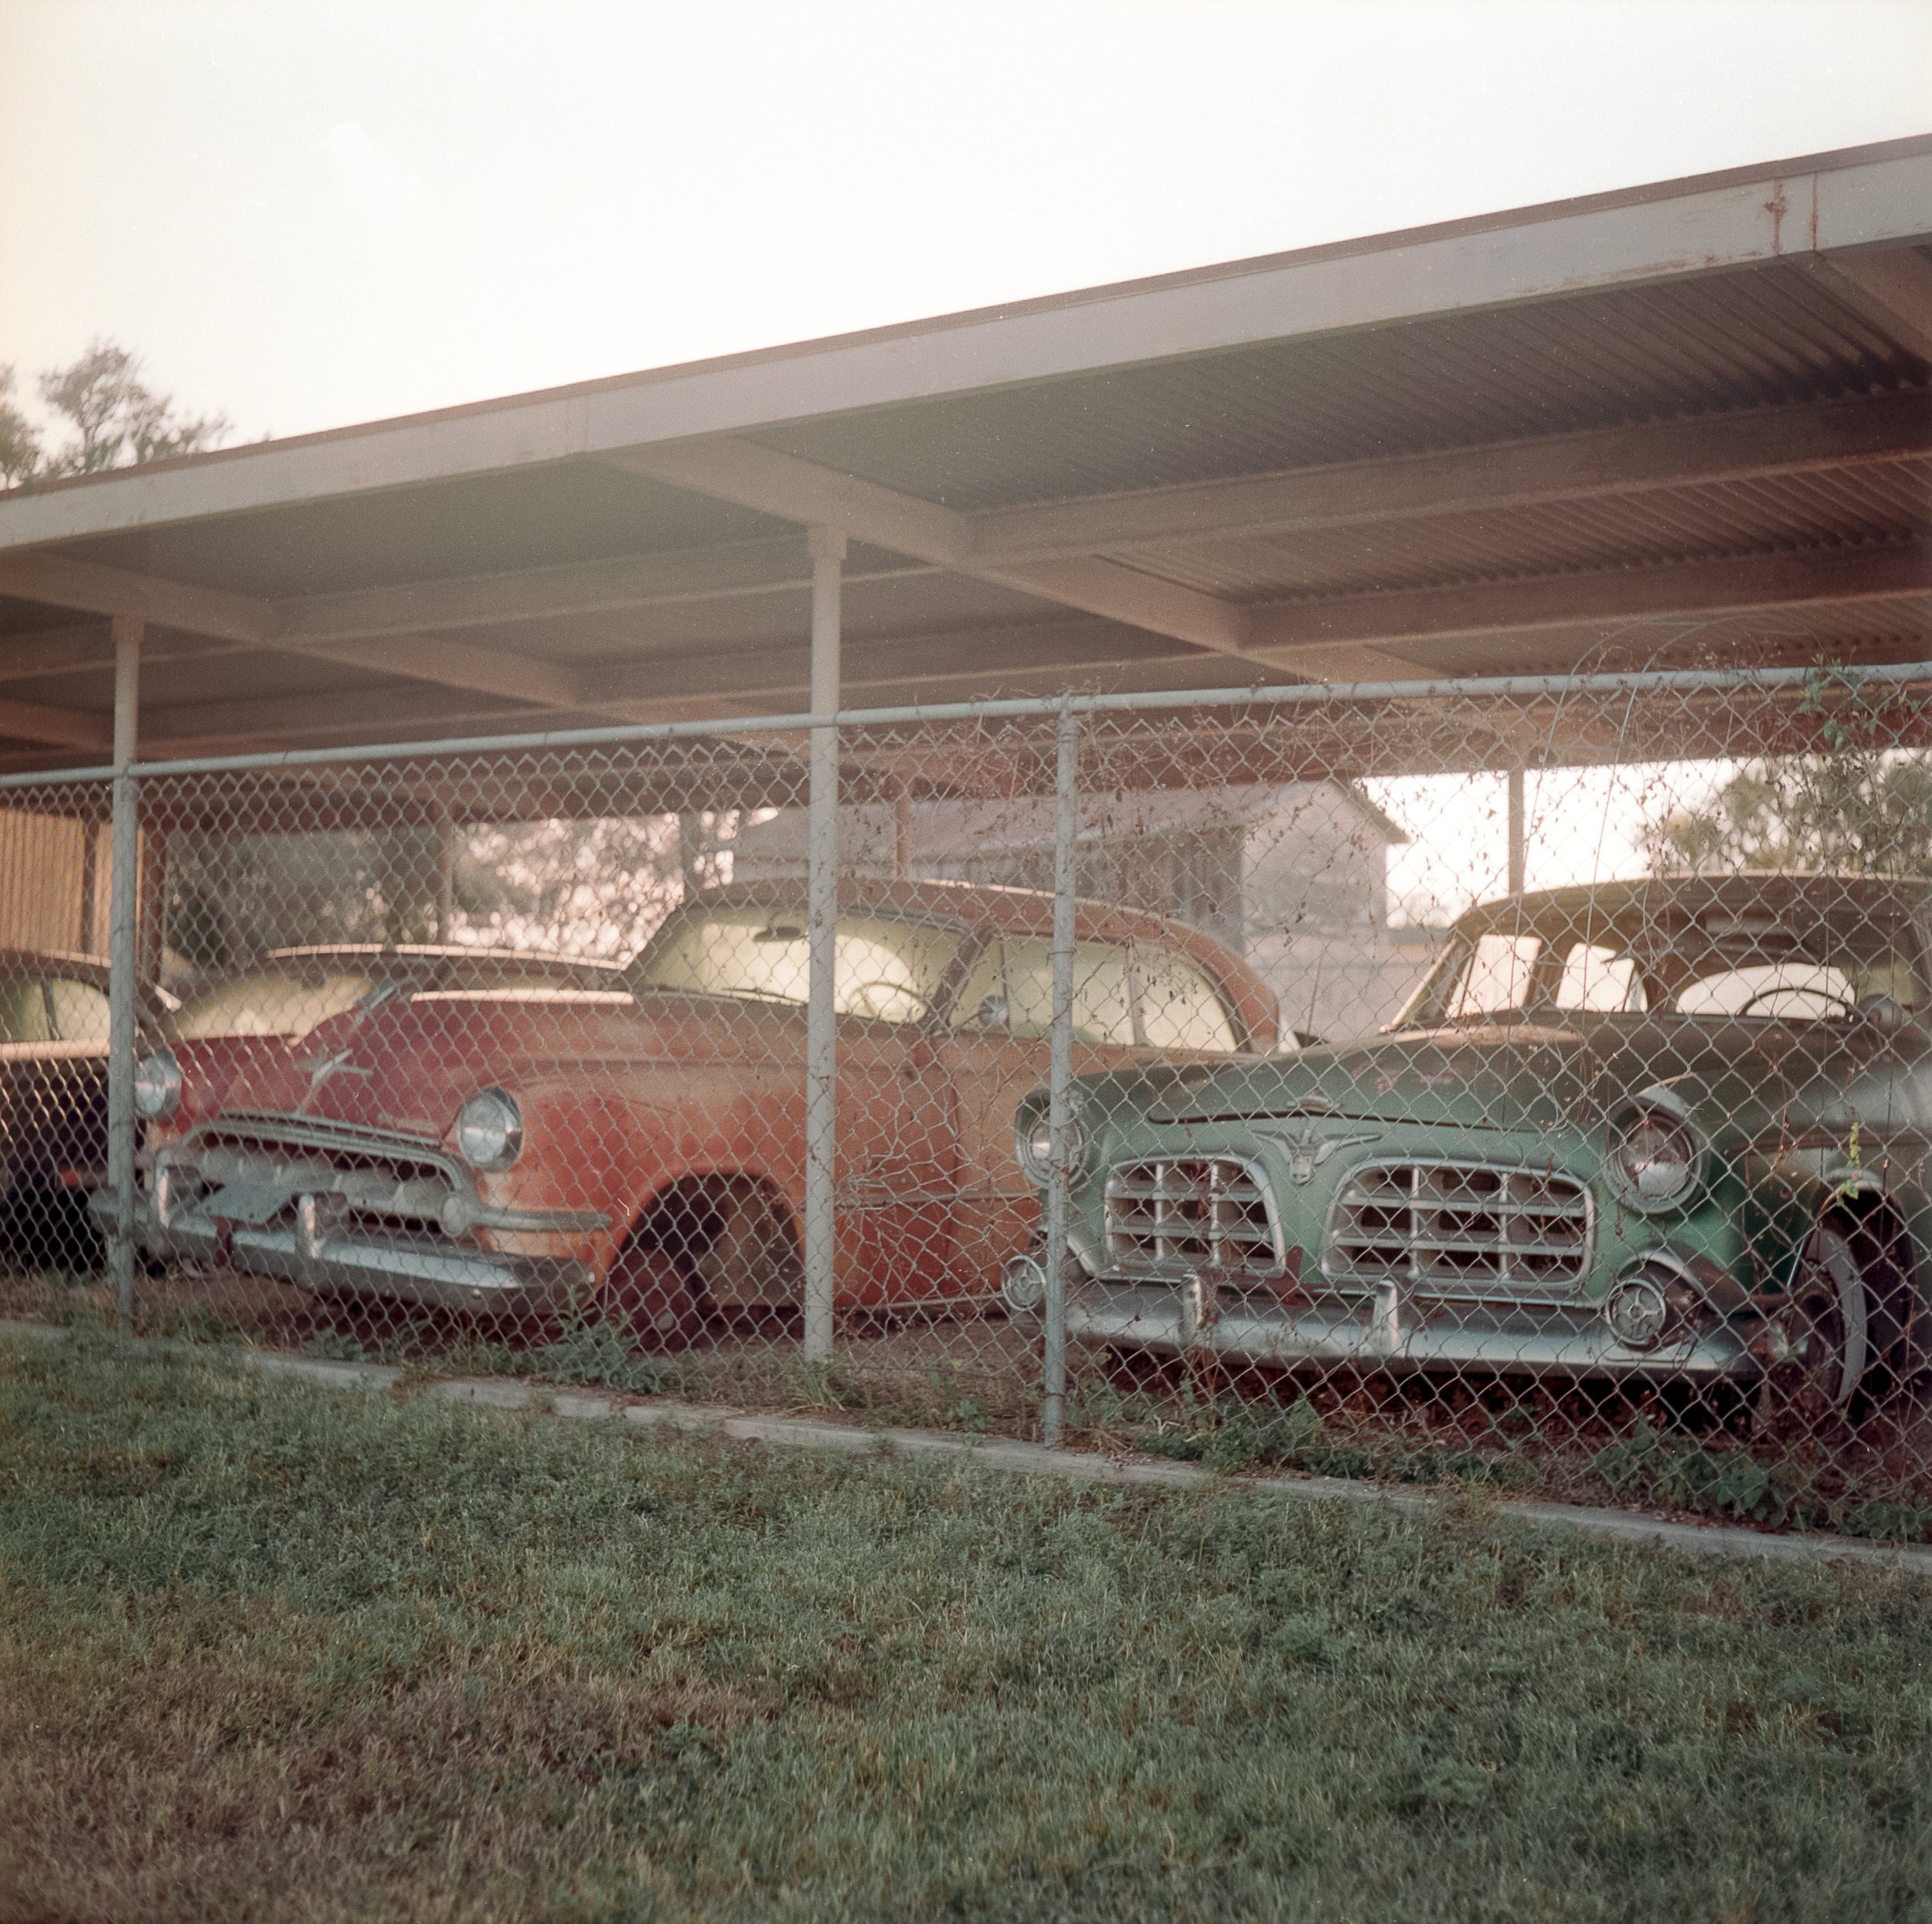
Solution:
[{"label": "tall pale roof post standing before the red-orange car's side", "polygon": [[838,591],[846,537],[811,529],[811,792],[806,831],[806,1360],[833,1352],[838,1265],[835,1132],[838,1118]]}]

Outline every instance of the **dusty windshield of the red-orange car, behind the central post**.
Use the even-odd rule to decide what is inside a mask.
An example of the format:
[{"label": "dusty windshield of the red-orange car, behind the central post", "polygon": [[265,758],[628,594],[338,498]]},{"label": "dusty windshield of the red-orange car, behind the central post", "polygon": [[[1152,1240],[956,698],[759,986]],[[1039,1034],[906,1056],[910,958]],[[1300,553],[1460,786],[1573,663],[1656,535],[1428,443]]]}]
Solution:
[{"label": "dusty windshield of the red-orange car, behind the central post", "polygon": [[[958,929],[842,916],[833,962],[838,1014],[922,1020],[937,1003],[958,947]],[[638,956],[628,985],[802,1004],[810,974],[802,914],[705,910],[672,916]]]}]

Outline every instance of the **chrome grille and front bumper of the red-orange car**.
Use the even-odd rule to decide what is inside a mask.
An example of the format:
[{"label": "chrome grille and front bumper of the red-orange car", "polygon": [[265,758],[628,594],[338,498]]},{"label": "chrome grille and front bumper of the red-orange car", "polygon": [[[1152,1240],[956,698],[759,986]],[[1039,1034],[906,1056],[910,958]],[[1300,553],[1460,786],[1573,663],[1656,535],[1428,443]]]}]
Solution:
[{"label": "chrome grille and front bumper of the red-orange car", "polygon": [[[328,1163],[330,1149],[367,1157],[384,1146],[371,1132],[328,1126],[242,1149],[205,1149],[191,1136],[155,1157],[149,1188],[135,1198],[135,1242],[164,1261],[440,1310],[541,1316],[587,1300],[595,1283],[587,1263],[508,1256],[469,1238],[479,1229],[582,1234],[609,1227],[609,1217],[493,1207],[454,1161],[415,1144],[386,1146],[398,1161],[431,1171],[406,1182]],[[112,1194],[97,1190],[91,1207],[112,1223]]]}]

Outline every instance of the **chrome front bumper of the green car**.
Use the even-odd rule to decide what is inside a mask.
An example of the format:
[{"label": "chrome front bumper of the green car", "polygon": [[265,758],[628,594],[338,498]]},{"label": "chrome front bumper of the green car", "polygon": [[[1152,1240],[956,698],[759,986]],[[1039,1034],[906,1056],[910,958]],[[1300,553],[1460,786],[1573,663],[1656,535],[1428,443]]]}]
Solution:
[{"label": "chrome front bumper of the green car", "polygon": [[1066,1290],[1066,1335],[1090,1343],[1366,1370],[1750,1381],[1766,1368],[1752,1350],[1760,1329],[1718,1323],[1636,1350],[1586,1304],[1416,1300],[1387,1287],[1370,1296],[1267,1300],[1206,1279],[1082,1279]]}]

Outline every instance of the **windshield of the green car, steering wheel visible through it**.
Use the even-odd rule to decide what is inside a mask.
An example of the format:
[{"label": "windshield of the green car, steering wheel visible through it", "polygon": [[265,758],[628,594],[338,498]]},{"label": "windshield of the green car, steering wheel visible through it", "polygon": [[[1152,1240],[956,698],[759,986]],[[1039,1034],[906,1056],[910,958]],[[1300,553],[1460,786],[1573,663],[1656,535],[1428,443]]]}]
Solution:
[{"label": "windshield of the green car, steering wheel visible through it", "polygon": [[1853,896],[1604,920],[1528,904],[1513,923],[1464,923],[1401,1026],[1538,1012],[1905,1020],[1924,1006],[1909,918]]}]

